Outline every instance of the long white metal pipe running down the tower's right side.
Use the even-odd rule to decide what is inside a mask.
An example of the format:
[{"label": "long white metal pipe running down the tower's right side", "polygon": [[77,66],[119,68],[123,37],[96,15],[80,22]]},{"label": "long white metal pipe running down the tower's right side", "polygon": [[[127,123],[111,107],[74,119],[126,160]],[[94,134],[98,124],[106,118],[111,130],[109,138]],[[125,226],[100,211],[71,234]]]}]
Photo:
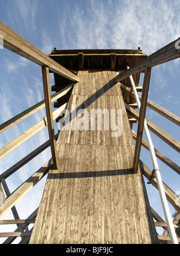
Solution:
[{"label": "long white metal pipe running down the tower's right side", "polygon": [[[129,68],[130,67],[127,66],[127,69],[129,69]],[[135,96],[135,99],[137,102],[137,107],[140,111],[140,100],[139,100],[139,96],[137,94],[136,86],[134,84],[133,76],[130,75],[129,78],[130,78],[131,86],[133,88],[134,96]],[[160,169],[159,169],[157,158],[156,158],[155,151],[154,151],[154,145],[152,143],[151,136],[149,134],[148,125],[146,123],[146,120],[144,121],[144,131],[145,131],[145,135],[146,135],[146,140],[148,142],[149,152],[151,154],[152,165],[154,168],[155,178],[157,180],[158,191],[160,193],[161,203],[163,205],[164,216],[166,218],[166,223],[167,223],[167,228],[168,228],[168,231],[170,234],[170,239],[173,244],[178,244],[178,239],[177,239],[177,236],[175,233],[175,228],[173,226],[169,206],[167,204],[166,194],[164,192],[163,181],[161,179]]]}]

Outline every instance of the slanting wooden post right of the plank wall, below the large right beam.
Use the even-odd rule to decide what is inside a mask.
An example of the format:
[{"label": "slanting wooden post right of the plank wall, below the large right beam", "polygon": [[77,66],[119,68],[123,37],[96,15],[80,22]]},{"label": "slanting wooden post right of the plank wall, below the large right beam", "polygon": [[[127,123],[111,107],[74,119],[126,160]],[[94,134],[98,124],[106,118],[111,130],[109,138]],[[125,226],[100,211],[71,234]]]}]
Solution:
[{"label": "slanting wooden post right of the plank wall, below the large right beam", "polygon": [[143,91],[142,91],[142,102],[141,102],[140,111],[139,111],[139,123],[137,127],[137,140],[136,140],[136,148],[135,148],[134,162],[133,162],[134,173],[137,173],[137,169],[139,165],[139,156],[140,156],[140,148],[142,143],[143,128],[145,123],[146,103],[148,99],[150,76],[151,76],[151,67],[148,67],[145,70],[145,77],[144,77]]}]

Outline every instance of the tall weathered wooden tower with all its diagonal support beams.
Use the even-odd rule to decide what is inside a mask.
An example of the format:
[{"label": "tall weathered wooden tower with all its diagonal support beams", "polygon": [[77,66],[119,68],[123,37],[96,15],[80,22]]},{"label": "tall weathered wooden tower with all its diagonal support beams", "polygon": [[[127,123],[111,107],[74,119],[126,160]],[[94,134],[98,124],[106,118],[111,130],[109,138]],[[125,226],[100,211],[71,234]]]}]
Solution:
[{"label": "tall weathered wooden tower with all its diagonal support beams", "polygon": [[[157,180],[145,163],[139,160],[142,124],[146,105],[179,125],[179,117],[147,99],[151,68],[180,56],[175,42],[147,57],[139,49],[56,50],[43,54],[4,23],[0,23],[4,47],[28,58],[42,67],[44,101],[32,106],[1,125],[1,132],[22,121],[40,108],[46,107],[47,117],[0,149],[1,158],[44,126],[49,140],[40,148],[5,170],[0,175],[0,217],[12,210],[16,223],[4,243],[21,237],[20,243],[159,243],[170,236],[158,236],[156,226],[167,224],[150,207],[143,175],[157,188]],[[127,65],[130,67],[127,70]],[[50,95],[49,72],[55,85]],[[143,87],[140,73],[145,72]],[[142,107],[137,111],[129,76],[133,77]],[[55,102],[56,101],[56,102]],[[52,111],[52,102],[57,108]],[[63,113],[63,114],[62,114]],[[61,123],[54,133],[53,120]],[[62,122],[63,121],[63,122]],[[138,133],[132,130],[139,122]],[[148,128],[176,151],[179,142],[150,120]],[[63,126],[65,124],[65,126]],[[136,145],[134,140],[137,140]],[[44,161],[25,183],[10,194],[5,179],[16,172],[45,148],[50,146],[52,158]],[[175,172],[179,166],[155,150],[155,154]],[[137,166],[136,166],[137,165]],[[19,219],[15,204],[46,175],[40,206],[31,216]],[[166,198],[176,209],[174,227],[178,228],[180,208],[178,196],[164,185]],[[156,222],[154,222],[154,219]],[[34,223],[29,230],[28,225]]]}]

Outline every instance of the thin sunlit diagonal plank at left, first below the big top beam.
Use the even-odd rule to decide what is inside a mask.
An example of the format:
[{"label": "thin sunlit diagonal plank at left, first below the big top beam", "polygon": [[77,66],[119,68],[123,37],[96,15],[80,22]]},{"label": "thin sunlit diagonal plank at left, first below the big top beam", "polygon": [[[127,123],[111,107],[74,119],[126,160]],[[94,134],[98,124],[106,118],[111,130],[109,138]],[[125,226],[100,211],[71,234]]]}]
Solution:
[{"label": "thin sunlit diagonal plank at left, first below the big top beam", "polygon": [[[56,101],[56,99],[59,99],[62,96],[64,96],[73,86],[74,86],[74,83],[70,84],[70,86],[67,86],[62,90],[59,90],[59,92],[56,92],[53,95],[51,95],[51,102],[54,102],[54,101]],[[17,114],[17,116],[14,116],[13,118],[11,118],[11,119],[7,120],[6,122],[2,123],[0,125],[0,133],[7,130],[8,128],[15,125],[16,123],[19,123],[20,121],[22,121],[26,117],[31,116],[31,114],[34,114],[36,111],[40,110],[43,107],[45,107],[45,101],[44,100],[38,102],[34,106],[32,106],[32,107],[28,108],[27,110],[23,111],[22,113]]]}]

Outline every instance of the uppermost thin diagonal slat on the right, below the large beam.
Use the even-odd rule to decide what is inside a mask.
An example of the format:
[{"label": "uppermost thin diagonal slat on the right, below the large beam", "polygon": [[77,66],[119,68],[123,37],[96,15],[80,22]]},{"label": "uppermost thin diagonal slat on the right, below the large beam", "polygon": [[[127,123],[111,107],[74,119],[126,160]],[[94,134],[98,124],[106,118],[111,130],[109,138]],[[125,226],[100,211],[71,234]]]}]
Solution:
[{"label": "uppermost thin diagonal slat on the right, below the large beam", "polygon": [[[121,89],[123,92],[127,93],[128,95],[131,95],[134,97],[134,93],[130,92],[129,88],[127,86],[124,86],[124,84],[119,83],[121,86]],[[139,99],[141,101],[142,95],[138,93]],[[135,97],[134,97],[135,98]],[[147,107],[151,108],[152,110],[156,111],[157,113],[161,114],[162,116],[166,117],[173,123],[176,123],[176,125],[180,126],[180,117],[176,116],[172,112],[166,110],[165,108],[161,107],[160,105],[156,104],[155,102],[148,99],[147,101]]]}]

